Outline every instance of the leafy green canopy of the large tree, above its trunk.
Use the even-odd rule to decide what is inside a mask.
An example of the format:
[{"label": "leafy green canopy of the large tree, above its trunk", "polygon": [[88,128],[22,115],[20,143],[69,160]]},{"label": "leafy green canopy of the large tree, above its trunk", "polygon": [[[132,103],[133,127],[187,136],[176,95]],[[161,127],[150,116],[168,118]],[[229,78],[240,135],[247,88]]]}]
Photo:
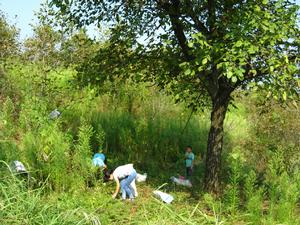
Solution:
[{"label": "leafy green canopy of the large tree, above its trunk", "polygon": [[128,49],[115,70],[143,71],[143,79],[167,87],[179,100],[205,104],[205,97],[214,101],[237,88],[266,89],[283,100],[299,94],[299,6],[292,1],[52,0],[51,5],[78,26],[110,27],[111,46]]}]

